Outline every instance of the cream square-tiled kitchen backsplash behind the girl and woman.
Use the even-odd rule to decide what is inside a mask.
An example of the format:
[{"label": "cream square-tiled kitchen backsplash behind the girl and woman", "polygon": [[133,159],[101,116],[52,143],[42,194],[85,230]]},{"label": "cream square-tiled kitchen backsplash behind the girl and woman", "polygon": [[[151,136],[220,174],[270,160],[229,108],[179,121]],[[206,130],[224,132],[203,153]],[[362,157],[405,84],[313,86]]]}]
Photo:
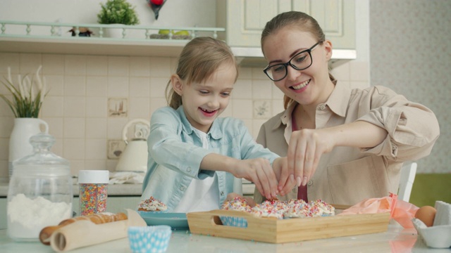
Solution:
[{"label": "cream square-tiled kitchen backsplash behind the girl and woman", "polygon": [[[17,74],[42,75],[50,88],[40,117],[56,138],[52,151],[70,160],[73,175],[80,169],[114,171],[117,159],[109,154],[111,141],[121,142],[130,119],[149,119],[166,105],[164,90],[175,70],[176,58],[75,56],[59,54],[0,53],[0,75],[11,67]],[[333,74],[350,86],[369,85],[368,63],[351,61]],[[0,93],[6,93],[1,86]],[[283,93],[260,68],[242,67],[232,99],[222,116],[244,120],[254,138],[262,123],[283,110]],[[0,178],[8,177],[8,141],[13,114],[0,102]],[[110,144],[111,148],[111,144]]]}]

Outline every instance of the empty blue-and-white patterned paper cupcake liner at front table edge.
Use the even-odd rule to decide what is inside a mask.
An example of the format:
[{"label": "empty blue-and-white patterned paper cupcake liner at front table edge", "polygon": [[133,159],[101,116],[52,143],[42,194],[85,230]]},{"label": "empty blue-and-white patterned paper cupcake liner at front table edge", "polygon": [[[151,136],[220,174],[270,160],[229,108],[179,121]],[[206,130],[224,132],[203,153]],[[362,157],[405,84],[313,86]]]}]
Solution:
[{"label": "empty blue-and-white patterned paper cupcake liner at front table edge", "polygon": [[171,227],[160,226],[132,226],[128,228],[128,240],[132,252],[166,252],[171,239]]}]

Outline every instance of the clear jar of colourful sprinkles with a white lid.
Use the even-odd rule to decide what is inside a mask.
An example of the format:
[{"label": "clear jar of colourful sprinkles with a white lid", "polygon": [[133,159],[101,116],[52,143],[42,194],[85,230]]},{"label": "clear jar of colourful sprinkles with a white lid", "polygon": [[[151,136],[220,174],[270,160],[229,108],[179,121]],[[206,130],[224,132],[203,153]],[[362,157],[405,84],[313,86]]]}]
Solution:
[{"label": "clear jar of colourful sprinkles with a white lid", "polygon": [[106,212],[109,171],[81,170],[78,172],[80,186],[80,216]]}]

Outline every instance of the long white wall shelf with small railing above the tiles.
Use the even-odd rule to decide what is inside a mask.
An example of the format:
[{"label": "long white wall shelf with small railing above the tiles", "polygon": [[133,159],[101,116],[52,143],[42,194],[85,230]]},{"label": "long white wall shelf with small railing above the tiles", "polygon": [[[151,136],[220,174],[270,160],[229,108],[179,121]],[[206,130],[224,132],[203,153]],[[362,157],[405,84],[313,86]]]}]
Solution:
[{"label": "long white wall shelf with small railing above the tiles", "polygon": [[[178,57],[190,39],[151,39],[159,30],[190,32],[191,37],[217,37],[225,32],[218,27],[152,27],[140,25],[101,25],[58,22],[18,22],[0,20],[0,52],[8,53],[65,53],[107,56],[161,56]],[[92,37],[73,37],[66,32],[81,27],[92,32]],[[123,37],[104,37],[111,28],[123,31]],[[64,32],[61,32],[64,31]]]}]

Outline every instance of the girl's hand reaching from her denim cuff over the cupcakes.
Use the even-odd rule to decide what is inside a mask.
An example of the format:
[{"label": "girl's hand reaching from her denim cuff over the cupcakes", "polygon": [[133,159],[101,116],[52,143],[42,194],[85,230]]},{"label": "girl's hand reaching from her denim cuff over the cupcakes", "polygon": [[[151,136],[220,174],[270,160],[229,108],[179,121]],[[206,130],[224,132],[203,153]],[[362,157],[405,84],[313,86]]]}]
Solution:
[{"label": "girl's hand reaching from her denim cuff over the cupcakes", "polygon": [[230,172],[238,179],[252,181],[261,195],[264,195],[268,200],[278,194],[276,175],[269,161],[264,158],[237,160]]}]

